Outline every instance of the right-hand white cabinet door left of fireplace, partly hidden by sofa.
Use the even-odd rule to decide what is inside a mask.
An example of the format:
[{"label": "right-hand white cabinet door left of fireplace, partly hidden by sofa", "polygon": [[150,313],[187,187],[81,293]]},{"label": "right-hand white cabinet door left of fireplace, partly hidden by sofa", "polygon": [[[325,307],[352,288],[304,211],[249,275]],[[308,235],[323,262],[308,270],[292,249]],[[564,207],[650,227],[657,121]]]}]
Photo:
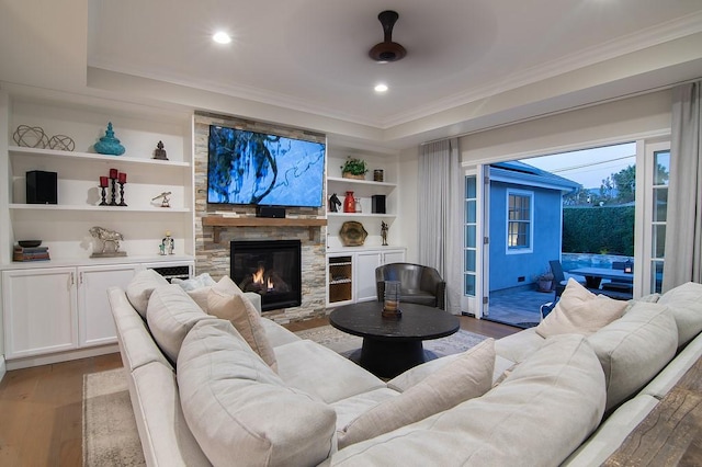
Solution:
[{"label": "right-hand white cabinet door left of fireplace, partly hidden by sofa", "polygon": [[78,267],[78,329],[80,346],[117,342],[107,288],[126,288],[136,274],[136,265]]}]

